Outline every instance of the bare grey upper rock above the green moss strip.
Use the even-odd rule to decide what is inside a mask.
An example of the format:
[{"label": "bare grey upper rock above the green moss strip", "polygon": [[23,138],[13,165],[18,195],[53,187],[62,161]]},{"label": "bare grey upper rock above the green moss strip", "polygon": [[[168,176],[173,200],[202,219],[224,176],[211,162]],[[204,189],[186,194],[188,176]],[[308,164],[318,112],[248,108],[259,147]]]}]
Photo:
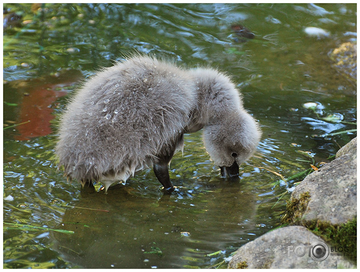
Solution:
[{"label": "bare grey upper rock above the green moss strip", "polygon": [[295,224],[312,221],[339,225],[356,217],[356,138],[336,159],[308,175],[293,191],[290,202],[300,206],[287,216]]}]

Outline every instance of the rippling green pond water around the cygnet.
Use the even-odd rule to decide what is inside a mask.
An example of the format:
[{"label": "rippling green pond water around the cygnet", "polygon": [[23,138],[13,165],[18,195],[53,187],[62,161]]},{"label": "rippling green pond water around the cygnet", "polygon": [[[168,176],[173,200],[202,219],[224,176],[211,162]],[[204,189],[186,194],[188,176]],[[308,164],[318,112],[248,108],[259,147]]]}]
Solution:
[{"label": "rippling green pond water around the cygnet", "polygon": [[[356,40],[356,4],[6,8],[6,268],[225,268],[237,248],[281,225],[285,200],[311,165],[331,161],[356,136],[356,82],[329,58]],[[232,25],[255,37],[238,36]],[[309,37],[306,27],[330,35]],[[170,197],[151,170],[107,194],[81,190],[56,170],[54,125],[67,94],[134,51],[233,77],[263,131],[240,182],[220,177],[201,131],[186,134],[172,160],[178,189]]]}]

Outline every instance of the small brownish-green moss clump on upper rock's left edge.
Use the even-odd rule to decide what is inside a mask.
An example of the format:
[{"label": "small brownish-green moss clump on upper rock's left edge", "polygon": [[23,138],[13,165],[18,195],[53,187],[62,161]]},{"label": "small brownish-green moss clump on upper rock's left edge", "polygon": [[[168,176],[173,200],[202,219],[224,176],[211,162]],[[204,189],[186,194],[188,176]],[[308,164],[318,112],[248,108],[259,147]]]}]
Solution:
[{"label": "small brownish-green moss clump on upper rock's left edge", "polygon": [[300,194],[300,198],[286,200],[286,214],[281,218],[281,222],[283,224],[290,224],[298,221],[308,206],[309,198],[310,193],[304,192]]}]

